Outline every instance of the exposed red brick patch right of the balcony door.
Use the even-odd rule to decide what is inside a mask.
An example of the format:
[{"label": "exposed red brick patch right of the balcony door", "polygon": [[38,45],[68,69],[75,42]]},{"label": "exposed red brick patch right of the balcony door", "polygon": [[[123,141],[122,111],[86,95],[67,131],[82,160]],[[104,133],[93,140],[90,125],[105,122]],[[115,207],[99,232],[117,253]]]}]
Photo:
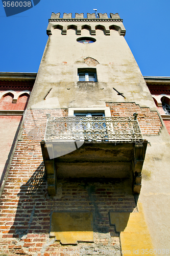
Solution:
[{"label": "exposed red brick patch right of the balcony door", "polygon": [[133,116],[133,113],[138,113],[137,120],[142,134],[158,134],[161,129],[162,124],[156,111],[128,102],[107,102],[106,105],[110,108],[111,116]]}]

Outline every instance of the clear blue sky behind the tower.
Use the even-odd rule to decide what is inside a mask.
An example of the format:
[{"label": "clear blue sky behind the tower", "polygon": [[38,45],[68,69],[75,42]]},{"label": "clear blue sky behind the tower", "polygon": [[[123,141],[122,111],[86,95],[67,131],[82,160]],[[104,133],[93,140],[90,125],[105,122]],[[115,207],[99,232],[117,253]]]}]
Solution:
[{"label": "clear blue sky behind the tower", "polygon": [[[3,0],[4,1],[4,0]],[[41,0],[35,7],[6,17],[0,2],[0,72],[38,72],[52,12],[119,13],[125,39],[144,76],[170,76],[169,0]],[[109,15],[108,15],[109,16]]]}]

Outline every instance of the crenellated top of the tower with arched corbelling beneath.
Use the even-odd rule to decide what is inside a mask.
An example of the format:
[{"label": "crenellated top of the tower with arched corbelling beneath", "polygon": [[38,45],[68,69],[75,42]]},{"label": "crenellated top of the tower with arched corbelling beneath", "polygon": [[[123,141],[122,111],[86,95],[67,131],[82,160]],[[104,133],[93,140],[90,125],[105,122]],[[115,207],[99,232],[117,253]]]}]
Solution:
[{"label": "crenellated top of the tower with arched corbelling beneath", "polygon": [[84,13],[76,13],[75,18],[72,18],[72,13],[64,13],[63,17],[60,18],[60,13],[53,12],[49,19],[46,33],[47,35],[52,35],[54,29],[60,28],[62,30],[62,35],[66,35],[67,29],[72,26],[77,29],[77,35],[81,35],[81,29],[85,25],[91,30],[91,35],[95,35],[97,26],[103,28],[105,35],[110,35],[110,29],[117,30],[119,35],[125,36],[126,33],[123,19],[120,19],[118,13],[110,13],[110,18],[108,18],[107,13],[99,13],[99,18],[96,18],[95,13],[87,13],[87,18],[84,18]]}]

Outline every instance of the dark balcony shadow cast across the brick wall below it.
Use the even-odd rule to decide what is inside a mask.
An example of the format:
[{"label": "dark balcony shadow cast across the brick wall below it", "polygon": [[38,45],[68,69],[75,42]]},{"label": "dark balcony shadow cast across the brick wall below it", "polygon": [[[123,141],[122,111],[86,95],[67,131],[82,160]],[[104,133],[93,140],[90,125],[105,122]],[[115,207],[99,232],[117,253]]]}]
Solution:
[{"label": "dark balcony shadow cast across the brick wall below it", "polygon": [[20,187],[15,221],[10,233],[19,239],[26,238],[28,233],[48,234],[54,212],[77,212],[78,215],[92,212],[93,232],[98,233],[99,237],[106,233],[118,237],[114,223],[109,222],[109,212],[126,212],[126,227],[128,216],[136,207],[128,184],[128,179],[60,179],[57,182],[57,195],[50,197],[47,195],[42,162],[27,183]]}]

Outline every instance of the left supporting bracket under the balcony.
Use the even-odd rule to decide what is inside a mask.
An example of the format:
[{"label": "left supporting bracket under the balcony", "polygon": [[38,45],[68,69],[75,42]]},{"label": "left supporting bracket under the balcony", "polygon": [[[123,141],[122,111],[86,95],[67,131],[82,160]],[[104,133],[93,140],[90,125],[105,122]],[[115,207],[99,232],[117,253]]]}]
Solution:
[{"label": "left supporting bracket under the balcony", "polygon": [[47,190],[49,195],[56,195],[57,174],[55,161],[53,157],[53,144],[41,141],[42,156],[45,165],[45,174],[47,179]]}]

